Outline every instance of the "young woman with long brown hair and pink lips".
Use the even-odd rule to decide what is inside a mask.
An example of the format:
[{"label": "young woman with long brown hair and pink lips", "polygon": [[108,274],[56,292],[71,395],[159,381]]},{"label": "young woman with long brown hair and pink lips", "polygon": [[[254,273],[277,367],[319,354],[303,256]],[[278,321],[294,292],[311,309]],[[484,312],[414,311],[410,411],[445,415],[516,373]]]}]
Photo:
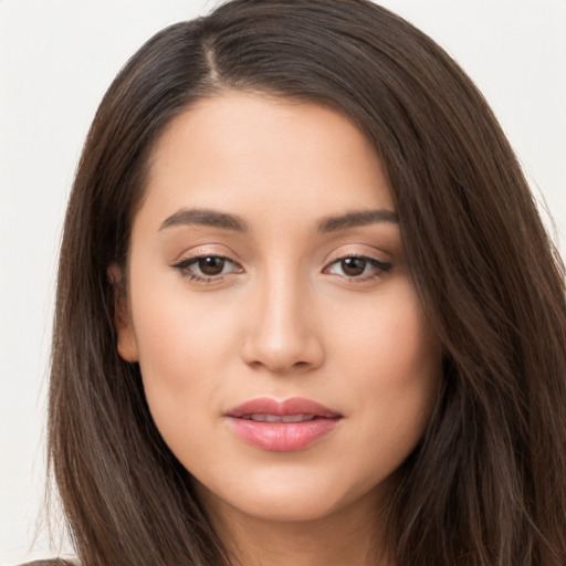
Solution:
[{"label": "young woman with long brown hair and pink lips", "polygon": [[564,272],[482,96],[366,1],[237,0],[107,92],[50,455],[88,565],[560,565]]}]

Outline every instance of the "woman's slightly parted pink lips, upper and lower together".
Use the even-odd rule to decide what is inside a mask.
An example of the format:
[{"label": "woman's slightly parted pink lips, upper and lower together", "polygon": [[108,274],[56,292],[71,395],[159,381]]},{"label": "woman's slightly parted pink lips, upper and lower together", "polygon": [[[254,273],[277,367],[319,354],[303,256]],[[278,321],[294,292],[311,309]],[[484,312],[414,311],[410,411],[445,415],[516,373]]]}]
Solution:
[{"label": "woman's slightly parted pink lips, upper and lower together", "polygon": [[331,433],[343,418],[323,405],[298,397],[282,402],[252,399],[228,411],[227,417],[242,440],[275,452],[310,447]]}]

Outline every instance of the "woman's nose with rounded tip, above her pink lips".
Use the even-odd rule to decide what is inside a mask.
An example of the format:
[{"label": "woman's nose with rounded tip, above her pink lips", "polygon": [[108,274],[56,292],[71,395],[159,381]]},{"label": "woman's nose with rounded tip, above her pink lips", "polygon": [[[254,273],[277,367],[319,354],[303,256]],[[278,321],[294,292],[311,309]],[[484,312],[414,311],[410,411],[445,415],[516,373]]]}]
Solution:
[{"label": "woman's nose with rounded tip, above her pink lips", "polygon": [[325,353],[308,293],[292,277],[271,277],[256,291],[247,313],[244,363],[279,374],[319,367]]}]

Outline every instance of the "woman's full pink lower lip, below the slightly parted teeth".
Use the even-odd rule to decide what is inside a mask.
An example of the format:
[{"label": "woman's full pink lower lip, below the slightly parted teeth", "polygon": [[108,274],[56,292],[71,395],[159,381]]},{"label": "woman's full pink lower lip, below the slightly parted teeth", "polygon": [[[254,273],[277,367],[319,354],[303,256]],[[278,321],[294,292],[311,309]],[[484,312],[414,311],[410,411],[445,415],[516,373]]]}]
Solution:
[{"label": "woman's full pink lower lip, below the slightly parted teeth", "polygon": [[303,450],[329,434],[339,418],[316,418],[304,422],[258,422],[229,417],[234,432],[249,444],[274,452]]}]

